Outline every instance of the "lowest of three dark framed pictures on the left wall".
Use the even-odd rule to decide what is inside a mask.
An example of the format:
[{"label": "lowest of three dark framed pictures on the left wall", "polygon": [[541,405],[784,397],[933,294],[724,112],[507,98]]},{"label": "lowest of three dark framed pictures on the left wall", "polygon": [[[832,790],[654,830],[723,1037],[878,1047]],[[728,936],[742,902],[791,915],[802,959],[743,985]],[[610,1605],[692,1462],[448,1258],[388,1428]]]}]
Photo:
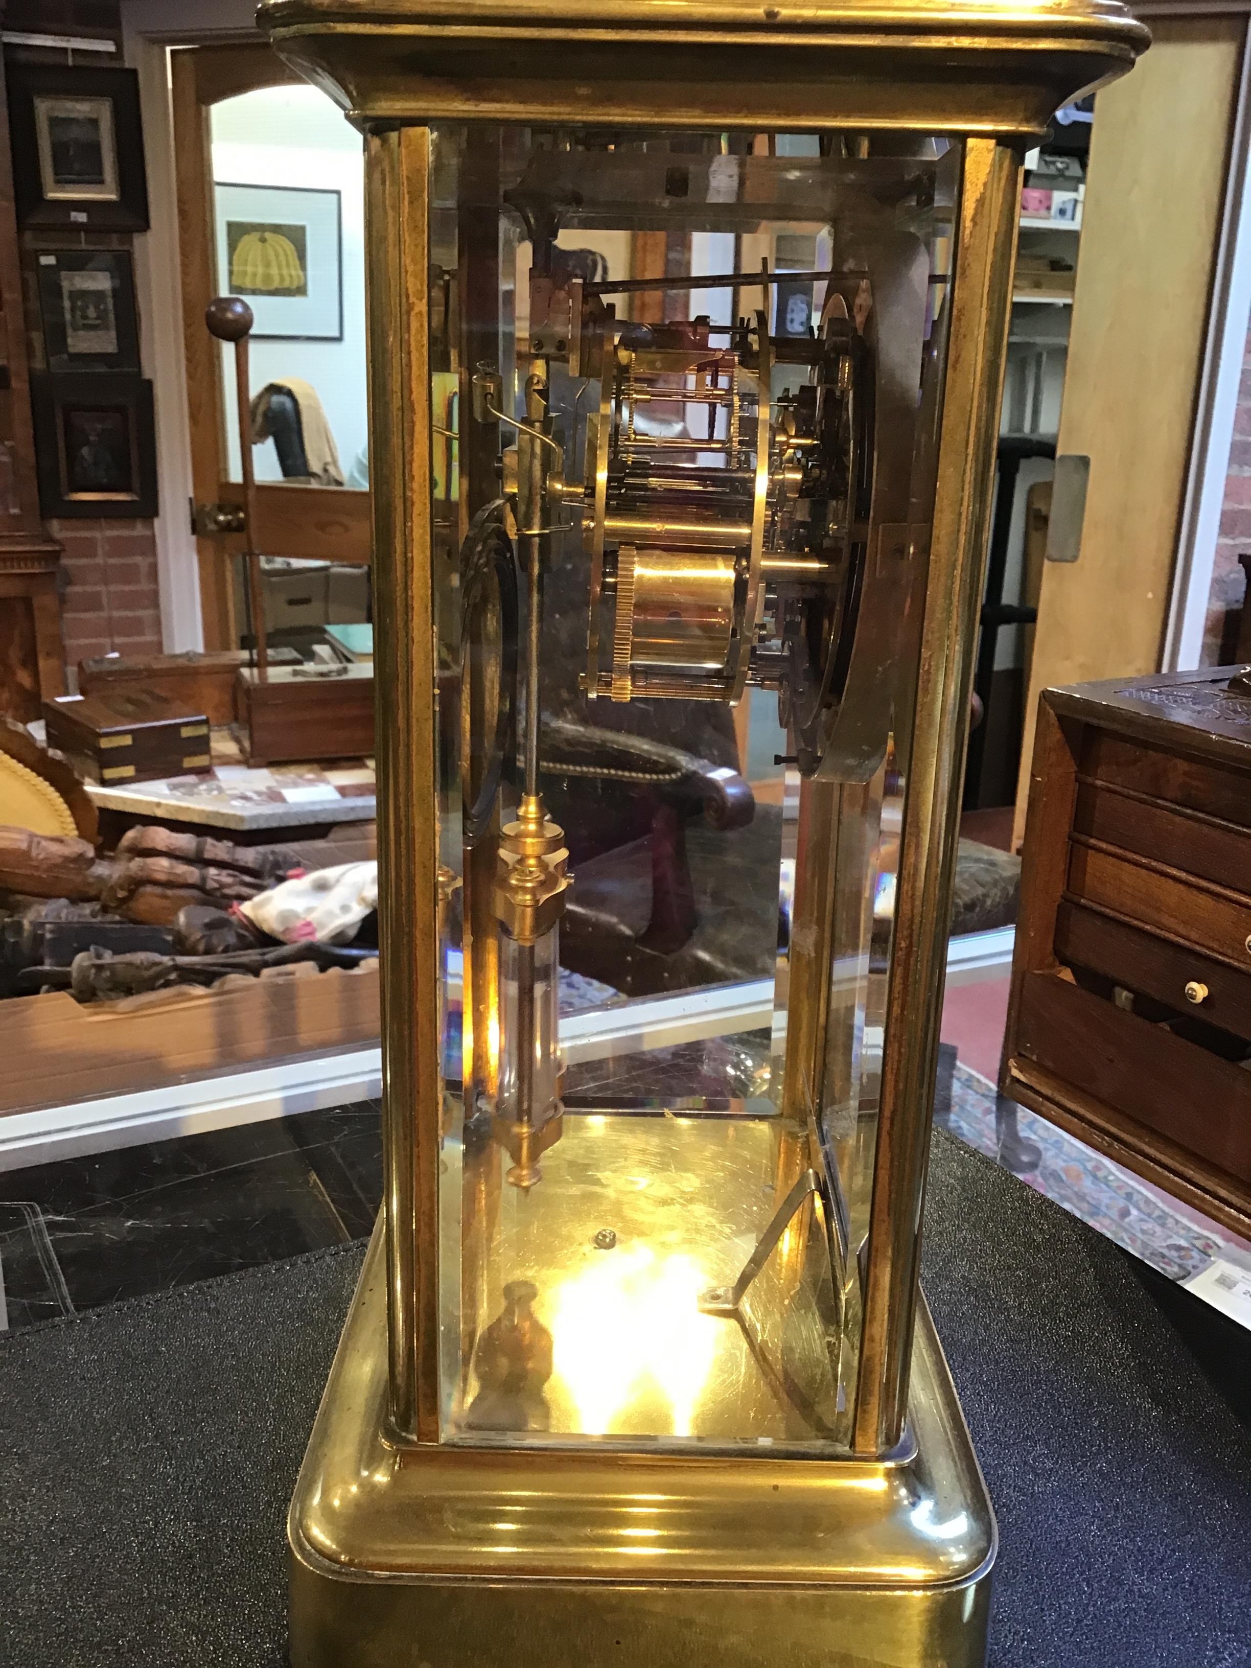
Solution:
[{"label": "lowest of three dark framed pictures on the left wall", "polygon": [[152,384],[100,370],[32,372],[45,517],[157,514]]}]

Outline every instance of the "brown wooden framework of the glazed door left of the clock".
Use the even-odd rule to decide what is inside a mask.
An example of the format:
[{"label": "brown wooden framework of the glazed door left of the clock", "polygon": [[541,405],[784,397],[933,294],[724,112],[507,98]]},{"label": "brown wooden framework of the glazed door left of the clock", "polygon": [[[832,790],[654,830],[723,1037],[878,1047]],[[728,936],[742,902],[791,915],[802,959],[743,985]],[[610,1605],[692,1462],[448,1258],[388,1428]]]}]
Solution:
[{"label": "brown wooden framework of the glazed door left of the clock", "polygon": [[[237,474],[230,467],[227,437],[227,420],[234,420],[234,399],[227,400],[224,392],[220,344],[208,335],[203,322],[210,299],[217,294],[229,294],[227,277],[219,275],[217,270],[219,229],[212,112],[225,100],[285,85],[302,88],[302,95],[312,95],[312,88],[304,88],[300,77],[289,70],[265,45],[195,47],[173,53],[172,102],[183,342],[197,505],[237,505],[242,509],[244,502],[242,482],[230,479],[232,474]],[[344,122],[342,117],[337,120]],[[340,307],[342,250],[340,229]],[[299,340],[294,337],[285,340],[292,342],[292,365],[300,370]],[[254,345],[254,394],[259,385],[257,357]],[[364,344],[360,364],[364,365]],[[352,462],[352,457],[340,459],[344,474],[350,470]],[[265,555],[349,564],[369,562],[367,490],[262,480],[257,489],[257,522],[259,525],[252,530],[254,542]],[[202,532],[197,539],[197,549],[205,647],[235,647],[240,622],[235,619],[235,587],[232,584],[235,564],[230,557],[242,549],[242,540],[239,535]]]}]

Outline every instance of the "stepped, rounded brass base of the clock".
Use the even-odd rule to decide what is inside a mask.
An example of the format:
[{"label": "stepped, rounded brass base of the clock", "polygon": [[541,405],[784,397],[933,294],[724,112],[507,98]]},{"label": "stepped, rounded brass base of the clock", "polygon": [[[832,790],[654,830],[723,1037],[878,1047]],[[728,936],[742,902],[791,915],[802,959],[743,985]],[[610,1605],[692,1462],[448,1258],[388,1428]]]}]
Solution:
[{"label": "stepped, rounded brass base of the clock", "polygon": [[375,1233],[289,1516],[295,1668],[981,1668],[996,1530],[919,1306],[889,1461],[402,1448]]}]

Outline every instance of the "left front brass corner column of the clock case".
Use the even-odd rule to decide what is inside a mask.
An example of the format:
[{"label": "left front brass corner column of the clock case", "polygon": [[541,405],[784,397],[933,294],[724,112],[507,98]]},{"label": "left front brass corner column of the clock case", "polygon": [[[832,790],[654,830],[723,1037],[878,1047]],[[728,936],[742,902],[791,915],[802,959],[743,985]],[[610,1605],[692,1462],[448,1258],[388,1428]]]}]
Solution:
[{"label": "left front brass corner column of the clock case", "polygon": [[[365,269],[374,477],[384,1221],[390,1419],[439,1438],[439,826],[427,335],[430,133],[369,133]],[[377,350],[377,344],[385,344]]]}]

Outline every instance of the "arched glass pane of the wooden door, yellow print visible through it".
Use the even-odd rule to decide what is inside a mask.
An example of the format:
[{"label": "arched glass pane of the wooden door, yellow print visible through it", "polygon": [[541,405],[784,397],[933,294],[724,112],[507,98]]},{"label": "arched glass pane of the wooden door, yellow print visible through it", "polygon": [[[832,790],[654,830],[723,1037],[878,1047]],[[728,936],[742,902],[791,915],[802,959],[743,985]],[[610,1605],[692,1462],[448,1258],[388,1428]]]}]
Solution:
[{"label": "arched glass pane of the wooden door, yellow print visible through it", "polygon": [[[315,87],[210,107],[215,294],[242,295],[257,480],[369,487],[364,155]],[[222,344],[225,444],[240,480],[235,369]]]}]

